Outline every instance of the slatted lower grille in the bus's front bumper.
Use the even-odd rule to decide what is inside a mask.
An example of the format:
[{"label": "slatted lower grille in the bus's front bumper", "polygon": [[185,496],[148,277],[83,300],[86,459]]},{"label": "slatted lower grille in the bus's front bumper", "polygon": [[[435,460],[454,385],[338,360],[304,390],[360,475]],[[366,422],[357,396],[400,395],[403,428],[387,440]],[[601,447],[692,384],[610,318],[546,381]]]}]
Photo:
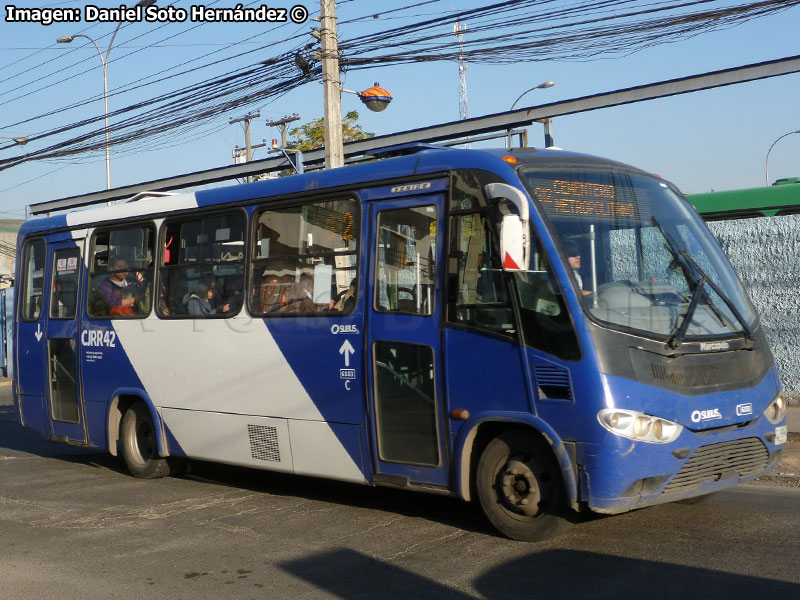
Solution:
[{"label": "slatted lower grille in the bus's front bumper", "polygon": [[745,438],[701,446],[664,488],[664,493],[683,492],[706,481],[746,477],[767,468],[769,452],[758,438]]}]

